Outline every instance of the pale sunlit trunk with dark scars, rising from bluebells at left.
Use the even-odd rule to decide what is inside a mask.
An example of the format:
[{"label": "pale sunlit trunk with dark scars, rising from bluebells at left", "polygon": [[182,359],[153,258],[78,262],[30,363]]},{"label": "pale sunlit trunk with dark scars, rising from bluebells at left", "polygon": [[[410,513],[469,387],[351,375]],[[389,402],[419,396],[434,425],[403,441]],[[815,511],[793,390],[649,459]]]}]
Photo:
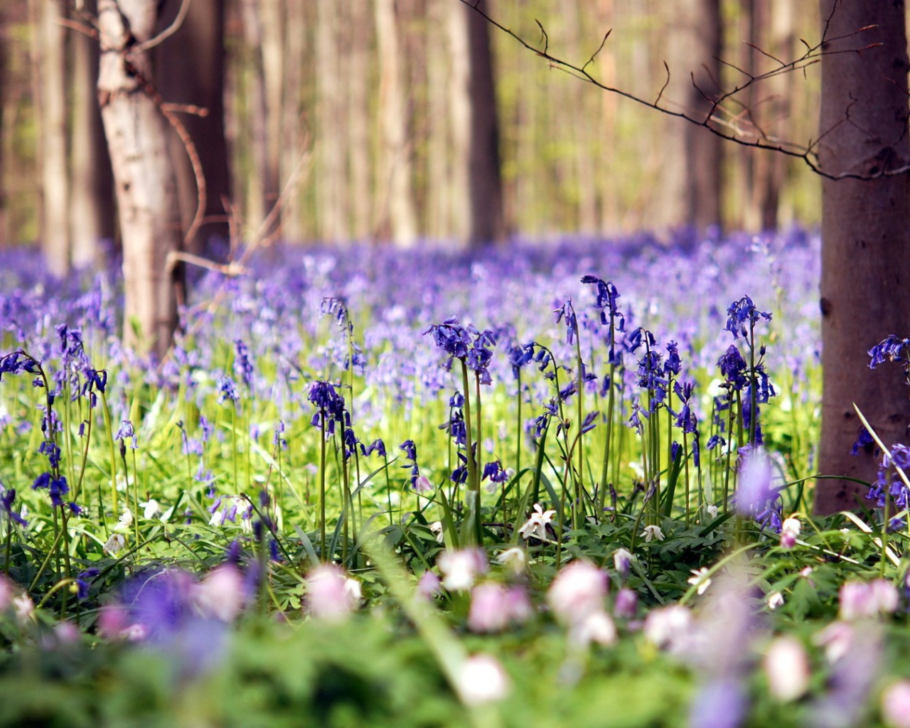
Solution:
[{"label": "pale sunlit trunk with dark scars, rising from bluebells at left", "polygon": [[101,67],[98,100],[114,168],[123,277],[126,346],[163,356],[177,325],[181,248],[177,183],[167,153],[167,122],[146,92],[147,52],[131,52],[155,31],[157,0],[98,0]]}]

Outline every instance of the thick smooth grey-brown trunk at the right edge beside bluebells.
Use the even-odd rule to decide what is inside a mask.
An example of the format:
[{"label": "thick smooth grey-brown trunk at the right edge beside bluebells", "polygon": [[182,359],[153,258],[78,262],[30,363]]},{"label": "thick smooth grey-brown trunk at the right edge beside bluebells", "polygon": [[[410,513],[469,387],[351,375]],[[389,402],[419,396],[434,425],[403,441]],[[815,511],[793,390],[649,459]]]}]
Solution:
[{"label": "thick smooth grey-brown trunk at the right edge beside bluebells", "polygon": [[[836,5],[836,12],[832,11]],[[822,61],[819,160],[826,171],[875,175],[910,160],[903,2],[821,0],[831,18]],[[859,32],[861,28],[869,28]],[[862,54],[838,50],[866,47]],[[849,120],[848,119],[849,115]],[[825,179],[822,187],[822,364],[819,470],[875,480],[870,451],[851,456],[860,423],[853,403],[885,445],[907,441],[910,401],[896,364],[870,371],[866,354],[889,334],[910,335],[910,177]],[[820,480],[815,511],[853,508],[864,488]]]}]

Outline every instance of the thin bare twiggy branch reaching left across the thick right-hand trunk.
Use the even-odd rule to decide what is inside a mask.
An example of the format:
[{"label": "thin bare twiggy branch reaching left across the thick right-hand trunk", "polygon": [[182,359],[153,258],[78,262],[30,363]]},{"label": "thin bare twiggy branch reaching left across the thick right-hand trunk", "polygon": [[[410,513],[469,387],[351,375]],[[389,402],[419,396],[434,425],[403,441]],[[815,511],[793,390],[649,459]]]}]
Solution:
[{"label": "thin bare twiggy branch reaching left across the thick right-hand trunk", "polygon": [[[729,66],[734,70],[742,73],[743,76],[745,76],[745,79],[742,83],[736,84],[733,86],[733,88],[727,91],[722,90],[721,93],[719,93],[716,97],[705,94],[701,88],[695,86],[693,79],[693,86],[695,86],[695,88],[702,96],[705,96],[705,98],[710,100],[712,103],[711,108],[703,116],[695,116],[692,112],[686,110],[677,111],[661,104],[663,92],[670,84],[670,67],[667,66],[666,62],[663,63],[667,74],[666,79],[664,80],[663,85],[657,94],[657,97],[653,101],[649,101],[648,99],[642,96],[638,96],[637,94],[634,94],[626,89],[605,84],[592,76],[591,72],[588,70],[588,67],[591,66],[591,60],[594,56],[591,56],[591,58],[588,59],[583,66],[578,66],[564,60],[563,58],[551,55],[550,39],[540,21],[535,20],[535,23],[537,23],[538,27],[541,29],[542,47],[540,45],[532,45],[518,33],[512,31],[505,25],[501,25],[500,22],[495,20],[480,8],[479,0],[459,0],[459,2],[464,5],[468,5],[475,13],[478,13],[488,23],[490,23],[490,25],[497,28],[502,33],[510,35],[520,45],[531,51],[531,53],[546,60],[552,67],[565,71],[571,76],[575,76],[581,81],[591,84],[591,86],[597,86],[603,91],[615,94],[617,96],[622,96],[623,98],[627,98],[636,104],[646,106],[667,116],[673,116],[695,126],[702,126],[703,128],[710,131],[713,135],[720,136],[721,138],[733,142],[734,144],[738,144],[741,147],[766,149],[768,151],[777,152],[778,154],[783,154],[786,157],[801,159],[804,164],[819,177],[824,177],[826,179],[872,180],[881,177],[894,177],[895,175],[902,175],[910,172],[910,164],[889,169],[877,169],[872,174],[859,174],[854,172],[841,172],[835,174],[833,172],[829,172],[821,167],[818,159],[817,149],[819,142],[824,138],[824,136],[827,136],[827,134],[832,131],[831,129],[828,129],[826,132],[824,132],[824,134],[820,135],[814,141],[810,139],[807,144],[801,145],[795,142],[772,139],[770,136],[767,136],[758,125],[754,124],[751,118],[749,119],[748,126],[750,126],[753,131],[752,133],[747,133],[743,131],[742,127],[738,123],[738,121],[743,118],[743,111],[733,113],[726,109],[726,105],[729,104],[743,106],[742,103],[736,98],[736,96],[741,95],[743,91],[750,86],[765,81],[769,78],[773,78],[774,76],[779,76],[785,73],[794,73],[795,71],[802,71],[805,73],[807,68],[819,63],[823,56],[833,56],[843,53],[856,53],[862,55],[864,51],[882,45],[881,43],[868,43],[865,45],[855,45],[854,47],[832,49],[830,47],[832,43],[837,41],[850,40],[855,36],[862,35],[866,31],[869,31],[875,27],[875,25],[865,25],[864,27],[858,28],[854,32],[845,35],[828,35],[831,25],[831,18],[834,16],[834,12],[836,11],[838,5],[837,2],[834,3],[831,14],[828,15],[828,17],[824,20],[822,37],[818,43],[810,45],[803,38],[799,39],[800,42],[805,46],[805,51],[802,56],[794,58],[794,60],[784,62],[781,59],[775,58],[770,54],[764,53],[761,51],[761,49],[756,48],[756,50],[759,50],[761,53],[763,53],[763,55],[768,56],[778,64],[778,67],[773,68],[772,70],[765,73],[756,75],[747,73],[746,71],[743,71],[743,69],[738,68],[737,66],[733,66],[733,64],[727,63],[726,61],[723,61],[723,59],[718,59],[724,65]],[[610,34],[608,33],[604,36],[604,43],[606,42],[606,38],[609,35]],[[601,48],[602,47],[603,43],[601,44]],[[598,49],[598,52],[600,52],[601,48]],[[594,55],[596,56],[596,53]],[[713,80],[716,83],[716,79]],[[743,106],[743,108],[745,109],[746,113],[748,113],[748,107]],[[844,121],[849,121],[849,119],[845,118]]]}]

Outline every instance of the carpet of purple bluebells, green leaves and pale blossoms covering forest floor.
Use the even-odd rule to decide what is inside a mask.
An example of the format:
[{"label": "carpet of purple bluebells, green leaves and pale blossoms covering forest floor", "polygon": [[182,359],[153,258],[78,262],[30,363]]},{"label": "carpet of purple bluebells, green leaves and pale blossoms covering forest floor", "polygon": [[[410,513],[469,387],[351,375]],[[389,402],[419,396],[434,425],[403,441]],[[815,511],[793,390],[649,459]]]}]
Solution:
[{"label": "carpet of purple bluebells, green leaves and pale blossoms covering forest floor", "polygon": [[0,258],[0,724],[910,726],[910,450],[809,515],[817,236],[272,248],[160,360]]}]

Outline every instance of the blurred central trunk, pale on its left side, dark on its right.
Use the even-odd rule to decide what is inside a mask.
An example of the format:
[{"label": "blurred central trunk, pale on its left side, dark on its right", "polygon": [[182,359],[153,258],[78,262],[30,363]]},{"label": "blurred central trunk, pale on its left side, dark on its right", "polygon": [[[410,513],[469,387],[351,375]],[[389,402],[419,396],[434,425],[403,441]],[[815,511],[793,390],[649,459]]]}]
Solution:
[{"label": "blurred central trunk, pale on its left side, dark on its right", "polygon": [[490,28],[460,3],[451,5],[449,20],[454,217],[458,237],[479,246],[500,240],[504,230]]}]

